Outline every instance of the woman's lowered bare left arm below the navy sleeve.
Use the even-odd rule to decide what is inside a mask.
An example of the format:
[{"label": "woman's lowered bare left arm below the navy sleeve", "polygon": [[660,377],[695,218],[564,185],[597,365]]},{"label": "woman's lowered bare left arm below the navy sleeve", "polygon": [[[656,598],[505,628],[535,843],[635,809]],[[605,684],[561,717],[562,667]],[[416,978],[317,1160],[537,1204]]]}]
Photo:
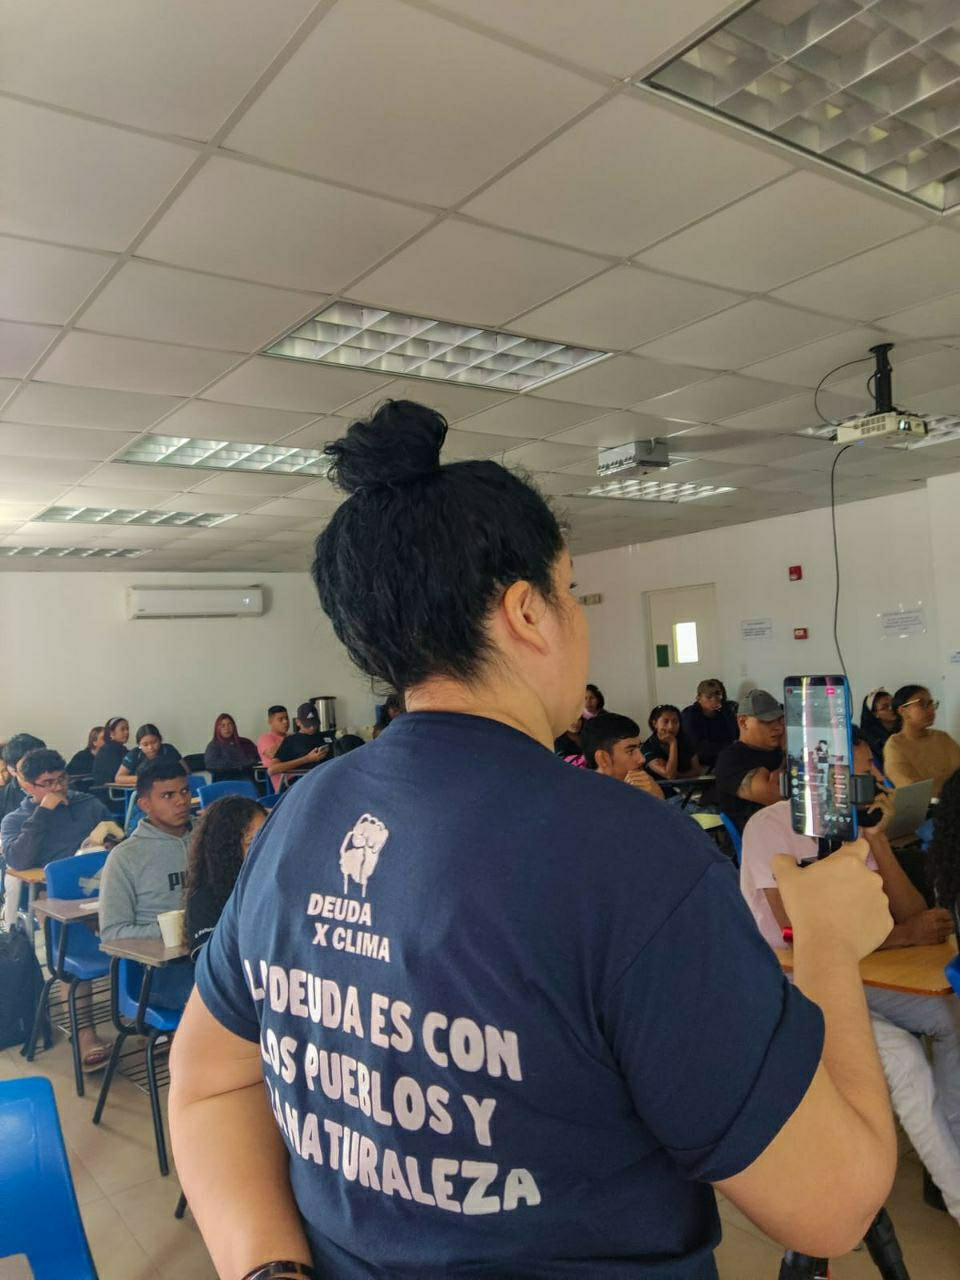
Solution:
[{"label": "woman's lowered bare left arm below the navy sleeve", "polygon": [[196,988],[170,1050],[168,1110],[177,1172],[218,1274],[310,1262],[260,1044],[221,1027]]}]

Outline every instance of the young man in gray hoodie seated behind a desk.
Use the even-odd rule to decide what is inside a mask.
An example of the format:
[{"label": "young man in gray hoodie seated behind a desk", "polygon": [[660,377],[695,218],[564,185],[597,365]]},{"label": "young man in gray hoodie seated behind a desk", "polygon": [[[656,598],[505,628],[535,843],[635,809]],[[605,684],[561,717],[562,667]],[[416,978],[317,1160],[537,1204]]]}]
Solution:
[{"label": "young man in gray hoodie seated behind a desk", "polygon": [[[151,760],[137,771],[137,804],[146,814],[110,851],[100,878],[100,936],[159,938],[156,918],[183,906],[191,835],[191,792],[179,760]],[[193,966],[172,965],[154,975],[159,1004],[182,1004]],[[178,998],[182,997],[182,998]]]}]

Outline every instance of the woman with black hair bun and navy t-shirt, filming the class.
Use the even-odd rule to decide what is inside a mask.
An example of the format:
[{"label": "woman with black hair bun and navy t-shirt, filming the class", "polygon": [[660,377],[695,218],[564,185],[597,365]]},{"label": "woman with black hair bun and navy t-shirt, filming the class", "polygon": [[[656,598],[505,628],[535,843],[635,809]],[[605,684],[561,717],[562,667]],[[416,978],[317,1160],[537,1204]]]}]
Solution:
[{"label": "woman with black hair bun and navy t-shirt, filming the class", "polygon": [[200,955],[169,1111],[218,1274],[716,1280],[710,1184],[850,1248],[896,1162],[877,877],[785,869],[791,986],[689,818],[553,754],[589,657],[561,526],[445,434],[389,401],[326,448],[320,604],[406,713],[284,796]]}]

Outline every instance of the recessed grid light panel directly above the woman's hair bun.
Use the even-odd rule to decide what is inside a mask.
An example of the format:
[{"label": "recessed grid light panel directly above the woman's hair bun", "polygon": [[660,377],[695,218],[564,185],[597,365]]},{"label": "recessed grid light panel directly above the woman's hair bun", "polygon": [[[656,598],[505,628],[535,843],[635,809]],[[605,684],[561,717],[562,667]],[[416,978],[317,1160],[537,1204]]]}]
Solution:
[{"label": "recessed grid light panel directly above the woman's hair bun", "polygon": [[526,392],[611,353],[334,302],[264,355]]}]

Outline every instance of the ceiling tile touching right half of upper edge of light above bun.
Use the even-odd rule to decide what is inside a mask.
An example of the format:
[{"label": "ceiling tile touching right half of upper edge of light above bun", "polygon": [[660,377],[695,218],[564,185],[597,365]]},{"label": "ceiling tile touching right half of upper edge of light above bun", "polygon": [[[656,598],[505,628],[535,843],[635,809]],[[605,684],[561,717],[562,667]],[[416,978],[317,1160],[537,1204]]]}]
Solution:
[{"label": "ceiling tile touching right half of upper edge of light above bun", "polygon": [[628,351],[741,301],[737,293],[614,266],[513,321],[520,333]]}]

